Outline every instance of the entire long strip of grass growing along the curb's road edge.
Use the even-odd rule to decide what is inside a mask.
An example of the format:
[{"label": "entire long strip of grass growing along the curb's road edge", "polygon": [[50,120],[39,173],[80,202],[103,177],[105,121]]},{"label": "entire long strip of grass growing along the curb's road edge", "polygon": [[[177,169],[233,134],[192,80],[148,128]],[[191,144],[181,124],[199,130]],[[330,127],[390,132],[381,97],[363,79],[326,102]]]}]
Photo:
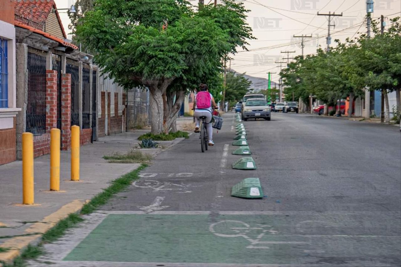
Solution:
[{"label": "entire long strip of grass growing along the curb's road edge", "polygon": [[[89,214],[89,213],[95,211],[99,206],[106,204],[106,202],[111,197],[113,197],[115,194],[121,192],[122,190],[126,189],[128,186],[130,186],[130,184],[134,180],[137,180],[139,178],[139,176],[138,176],[139,172],[146,167],[147,167],[146,164],[142,164],[136,170],[129,172],[128,174],[124,174],[120,178],[117,178],[117,179],[111,181],[111,185],[109,187],[107,187],[105,190],[103,190],[103,192],[100,192],[99,194],[94,196],[89,203],[87,203],[83,206],[83,208],[81,210],[81,214]],[[64,233],[65,233],[65,231],[67,231],[67,229],[75,227],[78,223],[80,223],[83,220],[84,219],[79,214],[75,214],[75,213],[69,214],[67,216],[67,218],[60,220],[59,223],[57,223],[57,225],[55,225],[53,228],[49,229],[49,231],[47,231],[43,235],[41,243],[39,243],[37,246],[28,245],[28,247],[22,252],[22,254],[19,257],[14,259],[14,263],[12,265],[6,265],[6,264],[2,263],[3,266],[4,267],[26,267],[27,260],[36,259],[37,257],[44,254],[43,244],[56,241],[57,239],[59,239],[61,236],[64,235]],[[32,235],[36,235],[36,233],[32,234]],[[5,249],[7,249],[7,248],[5,248]]]}]

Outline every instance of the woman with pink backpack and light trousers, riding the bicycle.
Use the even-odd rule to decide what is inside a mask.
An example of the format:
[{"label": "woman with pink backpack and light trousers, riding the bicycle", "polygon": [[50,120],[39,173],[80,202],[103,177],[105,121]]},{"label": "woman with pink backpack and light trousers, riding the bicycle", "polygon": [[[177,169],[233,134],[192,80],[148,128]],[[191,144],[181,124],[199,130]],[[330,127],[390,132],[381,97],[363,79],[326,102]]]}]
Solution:
[{"label": "woman with pink backpack and light trousers, riding the bicycle", "polygon": [[212,106],[217,108],[213,95],[209,93],[209,87],[201,83],[199,85],[199,92],[195,95],[194,107],[192,108],[195,117],[195,133],[199,132],[199,124],[201,123],[202,116],[205,116],[205,121],[209,121],[206,124],[207,134],[209,136],[209,146],[214,146],[213,142],[213,127],[212,127]]}]

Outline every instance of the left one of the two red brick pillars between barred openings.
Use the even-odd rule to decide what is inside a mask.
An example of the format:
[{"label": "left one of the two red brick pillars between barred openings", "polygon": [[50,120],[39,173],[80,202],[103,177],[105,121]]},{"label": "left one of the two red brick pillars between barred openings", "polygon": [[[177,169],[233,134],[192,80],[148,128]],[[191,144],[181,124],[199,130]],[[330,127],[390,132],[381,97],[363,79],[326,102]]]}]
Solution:
[{"label": "left one of the two red brick pillars between barred openings", "polygon": [[57,71],[46,71],[46,132],[57,128]]}]

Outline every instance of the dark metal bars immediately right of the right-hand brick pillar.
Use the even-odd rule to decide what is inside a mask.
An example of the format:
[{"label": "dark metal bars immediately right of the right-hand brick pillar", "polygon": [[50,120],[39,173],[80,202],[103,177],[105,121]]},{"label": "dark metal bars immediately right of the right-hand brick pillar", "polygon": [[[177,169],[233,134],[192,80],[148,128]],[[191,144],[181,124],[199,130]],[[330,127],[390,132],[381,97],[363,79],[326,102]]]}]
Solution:
[{"label": "dark metal bars immediately right of the right-hand brick pillar", "polygon": [[79,124],[79,62],[67,59],[65,72],[71,74],[71,126]]}]

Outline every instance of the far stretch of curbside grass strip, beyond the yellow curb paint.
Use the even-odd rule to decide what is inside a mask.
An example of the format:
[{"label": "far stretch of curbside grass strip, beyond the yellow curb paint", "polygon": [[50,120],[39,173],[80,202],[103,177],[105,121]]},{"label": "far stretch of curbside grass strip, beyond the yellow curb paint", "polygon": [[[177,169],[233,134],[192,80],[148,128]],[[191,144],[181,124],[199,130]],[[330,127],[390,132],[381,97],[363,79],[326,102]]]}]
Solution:
[{"label": "far stretch of curbside grass strip, beyond the yellow curb paint", "polygon": [[142,164],[138,169],[113,180],[109,187],[94,196],[89,203],[83,206],[81,214],[89,214],[96,210],[97,207],[106,204],[113,195],[126,189],[133,181],[137,180],[139,172],[146,166],[146,164]]}]

